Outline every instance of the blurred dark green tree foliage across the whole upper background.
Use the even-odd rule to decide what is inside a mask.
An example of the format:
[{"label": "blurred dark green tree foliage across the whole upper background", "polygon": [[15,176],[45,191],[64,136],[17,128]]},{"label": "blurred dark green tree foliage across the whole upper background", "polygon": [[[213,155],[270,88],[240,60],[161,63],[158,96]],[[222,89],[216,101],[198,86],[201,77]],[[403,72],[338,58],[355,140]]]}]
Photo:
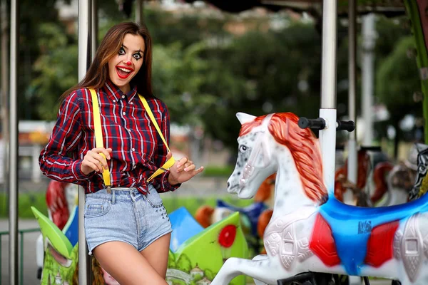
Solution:
[{"label": "blurred dark green tree foliage across the whole upper background", "polygon": [[[100,40],[113,24],[134,19],[126,19],[118,13],[115,0],[104,1],[100,9]],[[317,114],[322,62],[320,33],[313,23],[292,21],[287,14],[280,14],[280,18],[286,24],[273,30],[269,28],[272,19],[268,16],[238,19],[231,14],[179,14],[160,10],[153,5],[146,6],[144,19],[154,43],[153,87],[156,96],[168,105],[171,120],[202,126],[206,135],[221,140],[225,147],[236,151],[240,124],[235,113],[263,115],[293,112],[311,118]],[[34,65],[31,76],[27,76],[31,78],[31,85],[25,94],[31,105],[36,107],[29,114],[31,118],[54,120],[58,96],[77,83],[76,36],[68,35],[66,29],[55,21],[39,21],[39,24],[31,26],[37,37],[29,43],[31,51],[34,50],[31,53]],[[374,51],[379,69],[376,90],[382,93],[377,94],[378,101],[387,104],[388,108],[395,108],[394,103],[400,106],[404,102],[409,108],[400,108],[401,113],[422,109],[420,106],[415,108],[408,101],[412,93],[420,89],[419,86],[414,89],[414,81],[418,81],[417,73],[414,73],[416,65],[408,58],[399,60],[402,56],[405,58],[405,48],[402,51],[393,49],[402,36],[409,34],[406,23],[405,18],[379,17],[379,36]],[[245,26],[247,31],[240,36],[231,34],[229,31],[235,25]],[[347,27],[339,24],[339,117],[348,113],[346,34]],[[392,69],[390,57],[399,62],[400,68],[395,65],[396,69]],[[26,68],[27,72],[29,70],[31,68]],[[397,71],[400,76],[389,75],[386,70]],[[22,82],[26,82],[23,78]],[[391,78],[394,78],[394,85],[398,85],[399,89],[389,84]],[[358,68],[357,80],[360,80]],[[358,82],[357,86],[360,86]],[[389,93],[394,95],[388,97],[386,94]],[[360,105],[358,98],[360,96],[357,96],[357,105]],[[390,111],[393,114],[397,112]]]}]

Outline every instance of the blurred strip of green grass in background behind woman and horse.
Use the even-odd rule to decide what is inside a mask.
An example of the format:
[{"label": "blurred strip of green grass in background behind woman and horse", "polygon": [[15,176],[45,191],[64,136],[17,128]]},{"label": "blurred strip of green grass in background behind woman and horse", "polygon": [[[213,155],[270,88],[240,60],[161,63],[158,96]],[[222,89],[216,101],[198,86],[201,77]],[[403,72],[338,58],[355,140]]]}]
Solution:
[{"label": "blurred strip of green grass in background behind woman and horse", "polygon": [[[162,195],[161,195],[162,197]],[[253,203],[253,200],[244,200],[238,199],[234,197],[218,197],[219,199],[223,199],[225,202],[230,202],[237,207],[245,207]],[[207,204],[210,206],[215,206],[215,202],[218,198],[209,197],[165,197],[163,198],[163,204],[165,205],[165,209],[168,213],[173,212],[175,209],[179,207],[185,207],[188,209],[190,214],[195,214],[198,207],[201,205]],[[9,217],[9,200],[6,195],[0,195],[0,218]],[[34,214],[31,212],[31,206],[36,207],[43,214],[48,213],[46,206],[46,197],[44,192],[27,192],[20,193],[18,197],[18,214],[21,219],[34,219]]]}]

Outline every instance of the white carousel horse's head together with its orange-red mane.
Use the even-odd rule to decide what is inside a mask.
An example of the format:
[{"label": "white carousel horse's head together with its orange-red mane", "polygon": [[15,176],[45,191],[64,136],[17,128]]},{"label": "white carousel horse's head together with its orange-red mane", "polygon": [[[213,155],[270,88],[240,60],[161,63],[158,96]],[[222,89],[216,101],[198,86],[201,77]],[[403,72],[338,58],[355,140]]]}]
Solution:
[{"label": "white carousel horse's head together with its orange-red mane", "polygon": [[317,138],[311,130],[299,128],[297,115],[236,116],[241,123],[238,160],[228,180],[228,192],[250,199],[267,177],[281,171],[282,177],[289,177],[294,169],[295,179],[289,180],[296,183],[295,189],[303,190],[313,201],[327,195]]}]

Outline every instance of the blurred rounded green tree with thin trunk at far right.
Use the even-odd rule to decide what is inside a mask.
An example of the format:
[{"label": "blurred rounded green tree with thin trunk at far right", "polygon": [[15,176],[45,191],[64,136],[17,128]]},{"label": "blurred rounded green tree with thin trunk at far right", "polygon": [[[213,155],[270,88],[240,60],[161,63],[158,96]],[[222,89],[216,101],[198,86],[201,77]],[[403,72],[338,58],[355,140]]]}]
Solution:
[{"label": "blurred rounded green tree with thin trunk at far right", "polygon": [[[390,121],[396,130],[394,156],[397,157],[398,142],[402,138],[399,122],[407,114],[422,115],[422,103],[415,93],[421,86],[418,77],[412,36],[399,39],[394,50],[387,56],[377,71],[376,93],[381,103],[387,106]],[[410,53],[409,53],[410,51]]]}]

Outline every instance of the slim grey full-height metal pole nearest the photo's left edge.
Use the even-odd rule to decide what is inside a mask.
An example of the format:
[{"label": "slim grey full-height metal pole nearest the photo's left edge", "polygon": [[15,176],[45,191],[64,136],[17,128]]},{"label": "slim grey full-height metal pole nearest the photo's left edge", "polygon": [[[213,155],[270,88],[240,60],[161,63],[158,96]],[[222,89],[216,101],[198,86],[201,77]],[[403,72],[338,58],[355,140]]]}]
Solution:
[{"label": "slim grey full-height metal pole nearest the photo's left edge", "polygon": [[11,0],[10,149],[9,149],[9,283],[19,282],[18,267],[18,0]]}]

